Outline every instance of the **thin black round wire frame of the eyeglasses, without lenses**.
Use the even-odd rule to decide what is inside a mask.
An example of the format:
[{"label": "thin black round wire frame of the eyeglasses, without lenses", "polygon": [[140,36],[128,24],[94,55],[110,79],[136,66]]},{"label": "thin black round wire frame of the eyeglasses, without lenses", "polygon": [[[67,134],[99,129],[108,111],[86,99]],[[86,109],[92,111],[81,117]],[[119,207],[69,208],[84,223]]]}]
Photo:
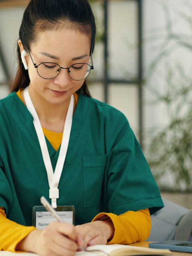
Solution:
[{"label": "thin black round wire frame of the eyeglasses, without lenses", "polygon": [[[56,75],[56,76],[54,76],[54,77],[52,77],[52,78],[45,78],[45,77],[42,77],[43,79],[47,79],[47,80],[49,80],[49,79],[53,79],[53,78],[55,78],[55,77],[57,77],[59,74],[60,74],[60,72],[61,72],[61,69],[67,69],[68,70],[68,75],[70,76],[70,67],[72,67],[72,66],[74,66],[74,65],[77,65],[77,64],[86,64],[86,65],[88,65],[89,67],[90,67],[90,71],[89,71],[89,73],[88,73],[88,75],[90,74],[90,72],[91,72],[91,70],[93,70],[94,69],[94,65],[93,65],[93,60],[92,60],[92,55],[90,55],[90,57],[91,57],[91,65],[89,65],[88,63],[74,63],[74,64],[72,64],[72,65],[70,65],[70,67],[60,67],[60,65],[59,64],[57,64],[57,63],[54,63],[54,62],[42,62],[42,63],[40,63],[39,65],[36,65],[36,63],[34,63],[34,61],[33,61],[33,59],[32,59],[32,56],[31,56],[31,54],[30,54],[30,51],[28,51],[28,53],[29,53],[29,55],[30,55],[30,58],[31,58],[31,60],[32,60],[32,63],[33,63],[33,65],[34,65],[34,68],[36,68],[37,69],[37,73],[38,73],[38,75],[40,76],[40,77],[42,77],[40,74],[39,74],[39,72],[38,72],[38,67],[40,66],[40,65],[42,65],[42,64],[55,64],[55,65],[57,65],[59,68],[60,68],[60,71],[59,71],[59,73]],[[88,75],[86,76],[86,77],[88,77]],[[82,79],[74,79],[74,78],[72,78],[71,76],[70,76],[70,78],[72,79],[72,80],[74,80],[74,81],[81,81],[81,80],[84,80],[84,79],[86,79],[86,77],[84,77],[84,78],[82,78]]]}]

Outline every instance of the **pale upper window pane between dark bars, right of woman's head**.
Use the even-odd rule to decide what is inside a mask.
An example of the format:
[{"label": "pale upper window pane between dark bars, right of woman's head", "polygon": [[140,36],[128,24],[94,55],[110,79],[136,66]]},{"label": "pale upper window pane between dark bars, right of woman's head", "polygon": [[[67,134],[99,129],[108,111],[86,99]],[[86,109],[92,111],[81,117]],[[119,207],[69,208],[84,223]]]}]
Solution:
[{"label": "pale upper window pane between dark bars, right of woman's head", "polygon": [[109,76],[114,79],[137,77],[137,1],[109,2]]}]

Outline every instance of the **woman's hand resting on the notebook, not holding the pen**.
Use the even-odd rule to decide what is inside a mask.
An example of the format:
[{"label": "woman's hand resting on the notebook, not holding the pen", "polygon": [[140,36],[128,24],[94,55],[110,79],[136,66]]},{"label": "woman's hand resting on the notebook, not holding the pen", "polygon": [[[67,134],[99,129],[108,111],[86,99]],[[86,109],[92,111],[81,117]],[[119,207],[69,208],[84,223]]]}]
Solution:
[{"label": "woman's hand resting on the notebook, not holding the pen", "polygon": [[93,221],[75,226],[77,243],[86,248],[95,244],[106,244],[114,235],[114,226],[110,221]]}]

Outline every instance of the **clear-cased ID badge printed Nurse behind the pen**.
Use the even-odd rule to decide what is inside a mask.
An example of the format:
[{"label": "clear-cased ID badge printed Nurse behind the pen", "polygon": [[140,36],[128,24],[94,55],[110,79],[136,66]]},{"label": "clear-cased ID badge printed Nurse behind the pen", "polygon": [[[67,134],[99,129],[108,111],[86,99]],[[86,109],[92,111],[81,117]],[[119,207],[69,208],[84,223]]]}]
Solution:
[{"label": "clear-cased ID badge printed Nurse behind the pen", "polygon": [[[57,206],[58,215],[64,223],[75,223],[75,207],[74,205],[61,205]],[[52,221],[57,221],[50,211],[47,211],[44,206],[34,206],[32,209],[32,223],[33,226],[43,230],[46,228]]]}]

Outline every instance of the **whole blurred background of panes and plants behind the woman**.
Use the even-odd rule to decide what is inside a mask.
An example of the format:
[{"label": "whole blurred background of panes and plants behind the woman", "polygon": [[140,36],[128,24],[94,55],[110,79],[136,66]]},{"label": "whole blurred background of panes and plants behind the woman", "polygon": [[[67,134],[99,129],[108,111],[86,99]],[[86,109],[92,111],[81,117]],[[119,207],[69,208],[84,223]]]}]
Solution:
[{"label": "whole blurred background of panes and plants behind the woman", "polygon": [[[16,72],[28,0],[0,1],[0,98]],[[190,0],[90,0],[98,35],[93,98],[128,118],[164,196],[192,207]],[[170,193],[171,192],[171,193]]]}]

